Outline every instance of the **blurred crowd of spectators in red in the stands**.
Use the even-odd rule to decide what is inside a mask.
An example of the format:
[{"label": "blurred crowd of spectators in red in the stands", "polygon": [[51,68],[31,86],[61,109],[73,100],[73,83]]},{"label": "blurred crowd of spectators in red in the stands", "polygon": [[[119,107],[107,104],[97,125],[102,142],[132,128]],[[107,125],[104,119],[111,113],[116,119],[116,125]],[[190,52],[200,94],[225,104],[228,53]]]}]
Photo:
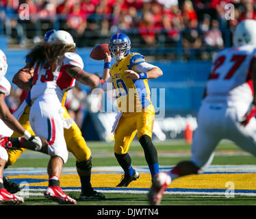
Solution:
[{"label": "blurred crowd of spectators in red in the stands", "polygon": [[[234,12],[227,12],[229,3]],[[54,28],[69,31],[77,47],[107,43],[120,31],[133,47],[221,49],[246,18],[255,18],[254,0],[1,0],[0,14],[2,34],[24,47]]]}]

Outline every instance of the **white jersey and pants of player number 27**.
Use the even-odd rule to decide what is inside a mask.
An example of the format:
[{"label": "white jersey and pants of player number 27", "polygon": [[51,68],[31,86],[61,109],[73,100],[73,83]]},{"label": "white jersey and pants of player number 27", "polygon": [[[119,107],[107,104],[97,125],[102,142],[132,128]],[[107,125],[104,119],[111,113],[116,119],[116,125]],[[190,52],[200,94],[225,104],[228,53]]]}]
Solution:
[{"label": "white jersey and pants of player number 27", "polygon": [[255,55],[256,47],[246,45],[222,50],[214,58],[192,142],[192,162],[199,168],[212,162],[222,139],[256,156],[255,118],[246,127],[240,125],[253,101],[251,63]]}]

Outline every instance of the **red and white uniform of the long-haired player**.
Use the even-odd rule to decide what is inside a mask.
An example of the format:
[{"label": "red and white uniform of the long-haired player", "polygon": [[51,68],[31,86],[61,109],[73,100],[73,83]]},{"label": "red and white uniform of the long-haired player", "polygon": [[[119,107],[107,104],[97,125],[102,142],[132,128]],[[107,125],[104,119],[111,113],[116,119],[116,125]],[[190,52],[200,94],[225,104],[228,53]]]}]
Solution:
[{"label": "red and white uniform of the long-haired player", "polygon": [[61,116],[62,99],[66,90],[75,86],[75,79],[65,71],[67,66],[83,69],[84,63],[76,53],[65,53],[54,71],[47,62],[34,65],[34,84],[31,88],[31,100],[34,103],[29,114],[29,123],[34,133],[49,142],[49,155],[62,157],[64,163],[68,159],[68,151]]}]

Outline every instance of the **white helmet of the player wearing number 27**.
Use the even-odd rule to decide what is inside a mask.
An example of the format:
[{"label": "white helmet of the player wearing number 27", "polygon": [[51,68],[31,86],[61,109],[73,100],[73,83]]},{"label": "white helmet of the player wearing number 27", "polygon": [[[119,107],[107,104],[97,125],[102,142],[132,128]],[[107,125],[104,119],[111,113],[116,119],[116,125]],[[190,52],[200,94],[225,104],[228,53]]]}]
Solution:
[{"label": "white helmet of the player wearing number 27", "polygon": [[247,44],[256,46],[256,21],[247,19],[241,21],[233,34],[233,46],[240,47]]}]

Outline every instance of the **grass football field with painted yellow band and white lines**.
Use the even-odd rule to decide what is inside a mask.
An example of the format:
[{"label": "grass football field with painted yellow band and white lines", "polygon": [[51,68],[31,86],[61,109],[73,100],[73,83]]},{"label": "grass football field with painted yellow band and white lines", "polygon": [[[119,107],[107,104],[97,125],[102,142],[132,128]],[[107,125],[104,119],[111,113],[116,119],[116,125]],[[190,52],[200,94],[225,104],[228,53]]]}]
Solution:
[{"label": "grass football field with painted yellow band and white lines", "polygon": [[[118,166],[118,163],[116,162],[116,158],[114,157],[113,153],[113,143],[106,143],[106,142],[88,142],[88,146],[90,146],[90,149],[92,150],[92,164],[93,169],[101,168],[103,166],[108,167],[111,169],[111,167]],[[174,166],[177,164],[177,162],[180,162],[184,159],[190,158],[190,145],[186,144],[183,140],[172,140],[168,142],[155,142],[155,146],[158,151],[159,155],[159,165],[163,166],[165,168]],[[144,159],[144,154],[142,152],[142,147],[138,144],[138,142],[133,142],[131,144],[131,147],[129,149],[129,153],[131,155],[131,159],[133,162],[133,166],[138,167],[145,167],[146,168],[146,162]],[[16,164],[13,166],[10,166],[8,169],[6,169],[6,172],[13,170],[26,170],[26,168],[42,168],[46,169],[47,162],[49,160],[49,157],[47,155],[42,155],[40,153],[35,153],[33,151],[25,151],[23,155],[18,159]],[[243,170],[243,167],[246,166],[246,168],[252,167],[256,165],[256,159],[252,155],[249,155],[248,153],[245,153],[244,151],[241,151],[237,146],[232,144],[229,141],[222,141],[217,149],[216,149],[216,156],[214,157],[214,161],[212,162],[213,166],[235,166],[238,168],[241,166],[241,170]],[[68,158],[68,162],[64,165],[64,168],[73,168],[75,169],[75,158],[73,155],[70,155]],[[36,169],[35,169],[36,170]],[[31,170],[33,172],[33,169]],[[74,170],[75,171],[75,170]],[[251,171],[251,172],[250,172]],[[170,188],[170,192],[166,193],[164,195],[164,198],[162,200],[161,205],[170,206],[170,205],[256,205],[256,193],[253,194],[245,194],[241,195],[239,194],[239,191],[253,191],[255,192],[256,188],[256,169],[250,170],[249,172],[235,172],[235,174],[232,174],[232,172],[227,172],[227,174],[209,174],[209,175],[202,175],[200,178],[199,176],[192,176],[185,179],[183,177],[183,181],[177,180],[178,183],[174,185],[173,188]],[[24,174],[24,173],[23,173]],[[8,175],[8,174],[6,174]],[[75,173],[74,173],[75,175]],[[113,174],[114,175],[114,174]],[[146,175],[146,173],[144,174]],[[144,176],[142,174],[142,176]],[[9,175],[8,175],[9,176]],[[73,175],[71,175],[73,176]],[[106,177],[107,180],[112,180],[112,175],[109,175],[110,177]],[[119,173],[116,178],[113,178],[113,183],[118,183],[120,181],[121,174]],[[10,175],[10,178],[16,179],[18,175]],[[105,180],[105,179],[99,179],[98,175],[92,174],[93,183],[92,186],[94,186],[94,183],[98,183],[97,181]],[[212,178],[211,178],[212,177]],[[235,178],[233,178],[235,177]],[[22,178],[22,177],[21,177]],[[26,178],[26,177],[25,177]],[[42,182],[42,186],[39,186],[38,190],[31,190],[29,191],[29,196],[25,196],[25,203],[23,205],[58,205],[57,203],[54,203],[52,201],[48,201],[42,196],[42,192],[44,191],[44,186],[47,185],[47,175],[42,175],[41,178],[44,178],[45,182]],[[149,205],[147,202],[147,189],[150,186],[150,178],[147,179],[147,183],[145,184],[145,190],[142,190],[144,192],[108,192],[105,190],[102,190],[105,194],[105,201],[77,201],[77,205],[84,205],[84,206],[97,206],[98,208],[102,208],[105,206],[144,206]],[[62,180],[62,179],[61,179]],[[79,178],[75,178],[79,184]],[[143,177],[141,179],[144,180]],[[133,184],[131,187],[138,187],[143,189],[143,185],[140,185],[139,183],[140,179],[138,179],[138,184]],[[173,191],[176,191],[175,188],[179,188],[179,185],[182,184],[183,190],[190,189],[190,188],[196,188],[196,184],[200,184],[200,186],[205,190],[212,190],[214,189],[215,185],[212,186],[211,183],[217,183],[218,181],[225,182],[225,181],[234,181],[235,182],[235,195],[231,198],[227,198],[224,193],[222,194],[214,194],[214,193],[205,193],[205,194],[190,194],[183,192],[182,194],[179,194],[179,192],[175,193]],[[100,182],[99,182],[100,183]],[[175,183],[175,181],[174,181]],[[193,184],[194,183],[194,184]],[[31,184],[33,185],[33,184]],[[39,184],[38,184],[39,185]],[[114,185],[114,184],[113,184]],[[29,184],[30,186],[30,184]],[[61,186],[64,186],[61,184]],[[181,186],[181,188],[182,188]],[[194,187],[193,187],[194,186]],[[212,186],[212,187],[211,187]],[[79,185],[78,185],[79,187]],[[95,186],[98,188],[98,186]],[[99,185],[99,189],[101,189],[101,185]],[[114,186],[110,186],[113,187]],[[222,188],[221,188],[222,187]],[[30,188],[30,187],[29,187]],[[33,186],[32,186],[33,188]],[[221,185],[220,188],[218,185],[216,185],[217,189],[224,189],[225,185]],[[226,188],[227,190],[227,188]],[[238,193],[236,193],[238,190]],[[79,197],[79,190],[66,190],[66,193],[71,195],[74,198]],[[94,209],[95,212],[97,212],[97,209]],[[96,214],[96,213],[95,213]],[[133,217],[134,218],[134,217]]]}]

